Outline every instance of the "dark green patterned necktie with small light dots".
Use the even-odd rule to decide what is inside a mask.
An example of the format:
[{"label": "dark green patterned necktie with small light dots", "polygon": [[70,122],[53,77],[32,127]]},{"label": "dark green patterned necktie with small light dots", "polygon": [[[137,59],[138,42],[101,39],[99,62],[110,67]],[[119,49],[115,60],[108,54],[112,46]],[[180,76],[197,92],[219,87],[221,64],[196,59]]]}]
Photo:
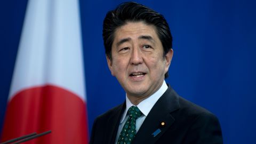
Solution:
[{"label": "dark green patterned necktie with small light dots", "polygon": [[118,144],[130,144],[136,134],[136,119],[141,116],[141,111],[138,107],[132,106],[129,108],[127,114],[129,115],[124,127],[119,135]]}]

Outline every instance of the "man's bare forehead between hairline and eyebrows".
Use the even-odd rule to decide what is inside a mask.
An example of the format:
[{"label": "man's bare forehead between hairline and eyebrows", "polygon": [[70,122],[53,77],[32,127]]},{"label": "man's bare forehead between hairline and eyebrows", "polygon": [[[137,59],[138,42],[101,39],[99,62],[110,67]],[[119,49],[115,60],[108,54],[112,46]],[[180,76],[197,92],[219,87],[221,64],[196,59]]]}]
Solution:
[{"label": "man's bare forehead between hairline and eyebrows", "polygon": [[114,43],[118,39],[123,38],[138,38],[141,35],[148,35],[154,39],[159,39],[156,33],[156,28],[153,25],[147,25],[145,22],[127,22],[115,30]]}]

